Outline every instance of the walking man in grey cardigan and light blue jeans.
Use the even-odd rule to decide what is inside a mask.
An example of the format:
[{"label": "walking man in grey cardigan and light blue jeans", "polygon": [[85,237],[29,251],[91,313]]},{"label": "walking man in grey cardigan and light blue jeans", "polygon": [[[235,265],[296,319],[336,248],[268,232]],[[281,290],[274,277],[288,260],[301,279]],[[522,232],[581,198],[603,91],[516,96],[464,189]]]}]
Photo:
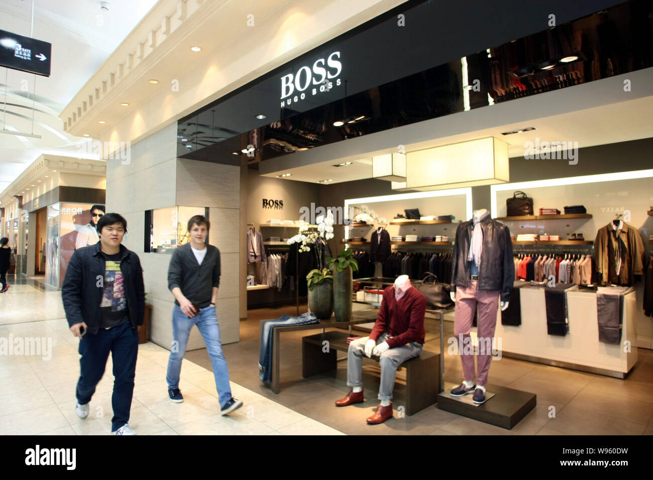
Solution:
[{"label": "walking man in grey cardigan and light blue jeans", "polygon": [[182,360],[191,328],[197,325],[213,365],[220,415],[227,415],[242,407],[243,402],[231,396],[229,370],[222,351],[220,327],[215,313],[215,300],[220,285],[220,251],[204,242],[210,227],[206,217],[191,217],[187,228],[191,241],[176,248],[170,259],[168,288],[174,295],[175,305],[172,310],[173,341],[166,381],[170,401],[182,403],[183,396],[179,389]]}]

